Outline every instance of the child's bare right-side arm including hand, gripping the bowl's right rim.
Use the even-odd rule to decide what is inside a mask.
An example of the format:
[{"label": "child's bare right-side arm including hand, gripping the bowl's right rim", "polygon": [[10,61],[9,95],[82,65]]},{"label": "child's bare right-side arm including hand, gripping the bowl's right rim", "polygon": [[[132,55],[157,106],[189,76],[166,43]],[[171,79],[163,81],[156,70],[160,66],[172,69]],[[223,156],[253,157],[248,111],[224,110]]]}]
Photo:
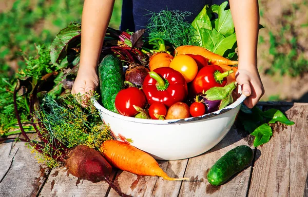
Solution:
[{"label": "child's bare right-side arm including hand, gripping the bowl's right rim", "polygon": [[239,53],[236,80],[242,86],[247,99],[244,103],[252,108],[264,94],[257,68],[257,44],[259,32],[259,6],[257,0],[229,0]]}]

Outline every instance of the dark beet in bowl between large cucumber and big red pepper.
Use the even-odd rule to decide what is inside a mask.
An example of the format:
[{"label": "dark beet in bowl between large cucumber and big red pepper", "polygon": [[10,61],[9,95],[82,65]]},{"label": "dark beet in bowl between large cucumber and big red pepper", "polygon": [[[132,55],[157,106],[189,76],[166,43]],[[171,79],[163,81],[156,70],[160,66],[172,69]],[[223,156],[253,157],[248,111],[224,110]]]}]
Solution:
[{"label": "dark beet in bowl between large cucumber and big red pepper", "polygon": [[142,87],[143,80],[148,72],[149,69],[142,65],[130,64],[128,69],[125,71],[125,81],[138,87]]}]

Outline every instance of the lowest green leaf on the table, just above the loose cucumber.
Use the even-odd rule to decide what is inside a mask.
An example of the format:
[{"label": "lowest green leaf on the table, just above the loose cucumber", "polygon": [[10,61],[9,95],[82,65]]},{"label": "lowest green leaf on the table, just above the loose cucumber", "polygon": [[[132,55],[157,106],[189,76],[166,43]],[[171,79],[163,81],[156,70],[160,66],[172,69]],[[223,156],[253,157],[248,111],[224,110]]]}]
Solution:
[{"label": "lowest green leaf on the table, just above the loose cucumber", "polygon": [[257,147],[267,143],[269,139],[271,139],[273,131],[268,124],[264,123],[261,126],[257,127],[254,132],[251,133],[251,135],[255,136],[254,147]]}]

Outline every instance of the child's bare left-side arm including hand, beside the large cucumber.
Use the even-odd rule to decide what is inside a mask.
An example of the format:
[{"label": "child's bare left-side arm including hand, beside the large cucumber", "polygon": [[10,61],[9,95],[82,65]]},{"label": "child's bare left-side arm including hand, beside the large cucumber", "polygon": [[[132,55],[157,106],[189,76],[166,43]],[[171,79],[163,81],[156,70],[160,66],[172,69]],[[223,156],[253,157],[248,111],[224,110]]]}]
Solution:
[{"label": "child's bare left-side arm including hand, beside the large cucumber", "polygon": [[114,0],[85,0],[81,23],[80,67],[72,94],[84,94],[99,86],[97,65],[109,25]]}]

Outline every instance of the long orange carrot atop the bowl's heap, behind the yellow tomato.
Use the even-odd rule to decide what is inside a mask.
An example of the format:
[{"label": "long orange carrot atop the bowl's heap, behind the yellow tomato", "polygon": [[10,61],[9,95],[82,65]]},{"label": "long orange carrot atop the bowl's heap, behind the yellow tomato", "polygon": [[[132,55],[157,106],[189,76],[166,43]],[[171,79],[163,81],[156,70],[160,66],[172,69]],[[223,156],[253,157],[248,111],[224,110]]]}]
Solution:
[{"label": "long orange carrot atop the bowl's heap, behind the yellow tomato", "polygon": [[227,58],[210,52],[209,50],[199,47],[199,46],[191,46],[191,45],[183,45],[176,48],[176,53],[180,54],[194,54],[194,55],[202,55],[210,61],[210,64],[220,65],[236,65],[238,61],[228,60]]}]

